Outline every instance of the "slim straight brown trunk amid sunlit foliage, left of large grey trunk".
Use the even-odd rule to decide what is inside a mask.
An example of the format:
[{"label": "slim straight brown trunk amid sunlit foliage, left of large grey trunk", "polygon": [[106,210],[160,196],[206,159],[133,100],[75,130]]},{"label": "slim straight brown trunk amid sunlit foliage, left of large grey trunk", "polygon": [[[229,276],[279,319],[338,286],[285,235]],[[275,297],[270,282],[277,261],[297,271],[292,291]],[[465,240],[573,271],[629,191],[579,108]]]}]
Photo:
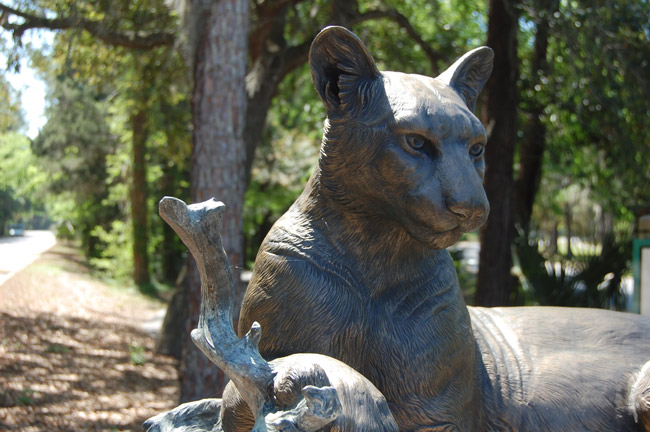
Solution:
[{"label": "slim straight brown trunk amid sunlit foliage, left of large grey trunk", "polygon": [[132,184],[131,221],[133,223],[133,280],[143,288],[151,283],[149,275],[149,228],[147,209],[147,115],[138,108],[131,117],[132,137]]}]

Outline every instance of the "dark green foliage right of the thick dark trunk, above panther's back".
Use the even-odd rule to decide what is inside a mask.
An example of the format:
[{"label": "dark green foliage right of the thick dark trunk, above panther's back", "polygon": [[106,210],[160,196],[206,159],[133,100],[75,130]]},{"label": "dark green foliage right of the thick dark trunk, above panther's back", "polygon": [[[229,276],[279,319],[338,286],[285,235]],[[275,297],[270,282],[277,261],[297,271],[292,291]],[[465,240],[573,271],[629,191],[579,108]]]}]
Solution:
[{"label": "dark green foliage right of the thick dark trunk, above panther's back", "polygon": [[[650,58],[650,5],[560,1],[558,12],[544,15],[548,4],[524,2],[520,32],[522,120],[540,104],[546,127],[530,242],[520,234],[515,244],[522,296],[530,304],[621,309],[630,223],[650,202],[650,83],[641,72]],[[531,69],[542,18],[550,24],[547,72]],[[626,233],[612,235],[621,223]],[[558,234],[571,238],[570,249],[556,244]],[[542,240],[551,243],[544,253]]]}]

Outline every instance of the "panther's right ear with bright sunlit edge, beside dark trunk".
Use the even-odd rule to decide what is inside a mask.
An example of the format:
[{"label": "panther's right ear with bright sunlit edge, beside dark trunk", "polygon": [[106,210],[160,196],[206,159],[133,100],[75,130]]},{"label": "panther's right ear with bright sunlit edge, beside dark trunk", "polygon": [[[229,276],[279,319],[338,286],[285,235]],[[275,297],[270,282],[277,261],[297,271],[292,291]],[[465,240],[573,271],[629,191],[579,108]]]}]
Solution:
[{"label": "panther's right ear with bright sunlit edge, beside dark trunk", "polygon": [[478,47],[451,65],[438,76],[438,79],[453,88],[474,111],[478,94],[492,73],[494,51],[488,47]]}]

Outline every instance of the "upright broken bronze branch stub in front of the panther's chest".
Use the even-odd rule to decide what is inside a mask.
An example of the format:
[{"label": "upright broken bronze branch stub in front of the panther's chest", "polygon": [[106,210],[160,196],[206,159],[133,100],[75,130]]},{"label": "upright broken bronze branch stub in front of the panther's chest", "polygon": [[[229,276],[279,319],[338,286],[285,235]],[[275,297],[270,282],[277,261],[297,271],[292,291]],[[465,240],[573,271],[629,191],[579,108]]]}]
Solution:
[{"label": "upright broken bronze branch stub in front of the panther's chest", "polygon": [[160,216],[190,250],[201,277],[201,310],[192,340],[228,375],[257,418],[271,404],[267,388],[273,372],[258,350],[260,325],[253,323],[242,339],[233,330],[235,285],[220,235],[225,208],[214,198],[188,206],[164,197],[159,204]]}]

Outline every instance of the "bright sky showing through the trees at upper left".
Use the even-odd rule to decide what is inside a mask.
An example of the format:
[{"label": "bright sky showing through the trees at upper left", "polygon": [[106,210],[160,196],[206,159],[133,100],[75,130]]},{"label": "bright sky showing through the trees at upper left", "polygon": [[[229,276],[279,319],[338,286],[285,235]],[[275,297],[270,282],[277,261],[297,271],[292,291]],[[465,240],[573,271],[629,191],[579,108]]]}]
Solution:
[{"label": "bright sky showing through the trees at upper left", "polygon": [[[5,41],[10,44],[7,34],[3,34]],[[51,32],[28,32],[23,37],[23,43],[32,43],[36,47],[52,42]],[[0,65],[6,69],[7,58],[0,53]],[[3,71],[4,72],[4,71]],[[27,136],[34,139],[38,131],[46,122],[45,118],[45,83],[36,76],[34,69],[29,67],[29,59],[20,61],[20,72],[4,72],[4,75],[14,89],[20,91],[20,101],[27,123]]]}]

